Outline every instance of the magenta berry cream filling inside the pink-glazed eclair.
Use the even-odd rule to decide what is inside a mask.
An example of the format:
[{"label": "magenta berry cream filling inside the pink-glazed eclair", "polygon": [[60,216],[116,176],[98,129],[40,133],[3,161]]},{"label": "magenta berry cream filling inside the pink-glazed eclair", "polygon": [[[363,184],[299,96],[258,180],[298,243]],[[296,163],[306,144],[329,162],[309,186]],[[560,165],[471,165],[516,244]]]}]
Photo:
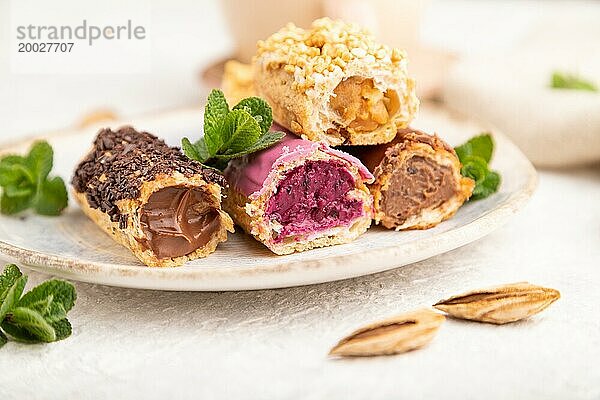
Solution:
[{"label": "magenta berry cream filling inside the pink-glazed eclair", "polygon": [[266,216],[282,225],[275,241],[350,225],[363,213],[362,201],[348,196],[354,188],[338,162],[307,161],[290,170],[267,204]]}]

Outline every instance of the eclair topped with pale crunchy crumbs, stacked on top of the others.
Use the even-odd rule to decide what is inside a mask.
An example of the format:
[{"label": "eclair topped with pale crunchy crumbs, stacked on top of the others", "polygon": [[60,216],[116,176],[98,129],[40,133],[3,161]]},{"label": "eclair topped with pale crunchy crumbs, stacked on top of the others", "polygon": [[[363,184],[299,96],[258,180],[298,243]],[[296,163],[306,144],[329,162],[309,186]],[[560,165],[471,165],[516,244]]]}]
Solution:
[{"label": "eclair topped with pale crunchy crumbs, stacked on top of the others", "polygon": [[273,119],[304,139],[387,143],[412,121],[419,101],[406,55],[342,21],[288,24],[258,42],[253,90]]}]

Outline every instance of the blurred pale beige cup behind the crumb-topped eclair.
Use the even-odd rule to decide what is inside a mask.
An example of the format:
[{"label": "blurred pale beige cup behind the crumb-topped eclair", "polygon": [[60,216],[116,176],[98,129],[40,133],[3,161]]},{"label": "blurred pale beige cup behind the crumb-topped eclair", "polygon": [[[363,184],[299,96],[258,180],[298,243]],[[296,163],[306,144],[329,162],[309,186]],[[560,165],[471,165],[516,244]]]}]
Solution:
[{"label": "blurred pale beige cup behind the crumb-topped eclair", "polygon": [[449,54],[427,48],[420,41],[425,0],[221,0],[221,4],[236,49],[232,57],[246,63],[256,52],[258,40],[288,22],[307,28],[323,16],[361,25],[381,43],[406,50],[421,98],[438,96],[452,60]]}]

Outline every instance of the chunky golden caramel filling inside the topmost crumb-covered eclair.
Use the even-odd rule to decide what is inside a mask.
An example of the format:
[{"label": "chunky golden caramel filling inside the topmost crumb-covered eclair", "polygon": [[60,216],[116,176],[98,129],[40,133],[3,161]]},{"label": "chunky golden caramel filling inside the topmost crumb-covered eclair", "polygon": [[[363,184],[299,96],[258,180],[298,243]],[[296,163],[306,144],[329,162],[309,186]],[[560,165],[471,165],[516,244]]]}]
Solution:
[{"label": "chunky golden caramel filling inside the topmost crumb-covered eclair", "polygon": [[352,76],[340,82],[329,102],[344,124],[356,132],[371,132],[387,123],[400,108],[394,90],[382,93],[375,88],[373,79]]}]

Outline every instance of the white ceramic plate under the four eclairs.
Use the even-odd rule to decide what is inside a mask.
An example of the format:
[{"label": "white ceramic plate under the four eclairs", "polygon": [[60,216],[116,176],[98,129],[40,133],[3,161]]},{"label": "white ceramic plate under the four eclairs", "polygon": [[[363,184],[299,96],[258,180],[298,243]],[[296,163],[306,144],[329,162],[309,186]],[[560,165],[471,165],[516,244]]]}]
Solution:
[{"label": "white ceramic plate under the four eclairs", "polygon": [[[177,145],[197,137],[202,111],[173,111],[128,121]],[[110,123],[113,127],[123,123]],[[452,145],[486,126],[423,106],[413,124]],[[98,126],[48,135],[58,174],[70,180]],[[463,206],[454,218],[424,231],[394,232],[372,227],[353,243],[288,256],[272,254],[241,232],[229,236],[209,257],[177,268],[148,268],[88,220],[74,202],[61,217],[0,216],[0,255],[9,261],[63,278],[114,286],[162,290],[243,290],[327,282],[372,274],[432,257],[470,243],[501,226],[523,207],[536,185],[530,162],[495,131],[493,166],[502,174],[500,191]],[[31,141],[4,146],[0,153],[25,152]],[[238,228],[238,231],[240,229]]]}]

